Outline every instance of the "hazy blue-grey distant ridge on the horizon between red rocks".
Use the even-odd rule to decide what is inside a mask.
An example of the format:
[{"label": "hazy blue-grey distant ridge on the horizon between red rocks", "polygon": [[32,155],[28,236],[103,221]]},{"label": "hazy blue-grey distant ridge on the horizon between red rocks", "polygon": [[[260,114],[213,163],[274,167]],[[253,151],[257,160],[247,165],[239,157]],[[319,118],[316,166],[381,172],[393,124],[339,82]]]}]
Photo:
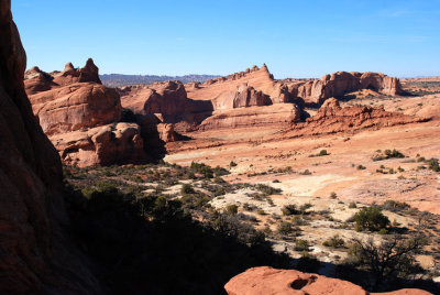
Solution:
[{"label": "hazy blue-grey distant ridge on the horizon between red rocks", "polygon": [[138,84],[153,84],[156,81],[179,80],[182,83],[200,81],[220,77],[218,75],[185,75],[185,76],[156,76],[156,75],[122,75],[105,74],[99,75],[101,81],[108,87],[122,87]]}]

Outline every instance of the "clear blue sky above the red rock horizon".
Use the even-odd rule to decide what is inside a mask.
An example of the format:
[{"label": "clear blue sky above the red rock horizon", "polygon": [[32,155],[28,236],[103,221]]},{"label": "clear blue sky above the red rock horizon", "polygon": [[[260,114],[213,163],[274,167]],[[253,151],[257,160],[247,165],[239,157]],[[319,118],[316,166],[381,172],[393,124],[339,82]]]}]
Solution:
[{"label": "clear blue sky above the red rock horizon", "polygon": [[101,74],[440,76],[440,0],[12,0],[28,67]]}]

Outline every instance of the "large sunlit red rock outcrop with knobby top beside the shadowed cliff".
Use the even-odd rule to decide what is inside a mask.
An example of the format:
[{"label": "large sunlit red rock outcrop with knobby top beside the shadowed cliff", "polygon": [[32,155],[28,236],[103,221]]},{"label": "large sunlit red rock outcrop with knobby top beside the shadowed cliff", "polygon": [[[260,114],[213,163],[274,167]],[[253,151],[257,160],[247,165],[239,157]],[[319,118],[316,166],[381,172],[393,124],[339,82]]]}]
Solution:
[{"label": "large sunlit red rock outcrop with knobby top beside the shadowed cliff", "polygon": [[120,96],[101,85],[91,58],[82,68],[68,63],[61,73],[32,68],[24,83],[35,117],[66,164],[111,165],[151,160],[141,127],[118,123]]}]

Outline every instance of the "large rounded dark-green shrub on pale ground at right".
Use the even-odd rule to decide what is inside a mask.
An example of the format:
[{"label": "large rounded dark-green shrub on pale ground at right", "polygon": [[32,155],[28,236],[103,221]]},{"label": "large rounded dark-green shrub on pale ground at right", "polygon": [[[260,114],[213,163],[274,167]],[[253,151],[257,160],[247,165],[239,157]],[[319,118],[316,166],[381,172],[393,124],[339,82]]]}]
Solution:
[{"label": "large rounded dark-green shrub on pale ground at right", "polygon": [[389,219],[377,206],[364,207],[354,215],[356,230],[378,231],[389,226]]}]

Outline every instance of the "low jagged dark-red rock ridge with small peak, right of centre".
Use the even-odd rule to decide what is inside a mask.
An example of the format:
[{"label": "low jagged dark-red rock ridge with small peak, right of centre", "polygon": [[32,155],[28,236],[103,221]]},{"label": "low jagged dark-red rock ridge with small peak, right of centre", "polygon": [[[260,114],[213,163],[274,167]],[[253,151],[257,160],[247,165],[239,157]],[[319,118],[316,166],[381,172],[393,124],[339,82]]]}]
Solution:
[{"label": "low jagged dark-red rock ridge with small peak, right of centre", "polygon": [[385,111],[383,107],[346,107],[342,108],[336,98],[326,100],[318,112],[292,127],[290,133],[312,135],[336,132],[353,132],[365,128],[383,128],[426,121],[425,118]]}]

